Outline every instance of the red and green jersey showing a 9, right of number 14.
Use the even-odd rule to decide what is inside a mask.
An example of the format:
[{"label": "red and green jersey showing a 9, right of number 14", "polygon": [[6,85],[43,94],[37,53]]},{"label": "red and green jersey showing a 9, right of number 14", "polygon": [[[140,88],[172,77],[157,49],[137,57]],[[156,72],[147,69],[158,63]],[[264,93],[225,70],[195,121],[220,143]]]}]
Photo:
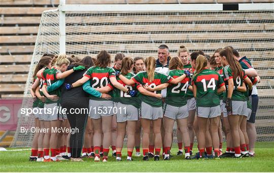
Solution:
[{"label": "red and green jersey showing a 9, right of number 14", "polygon": [[[236,79],[233,79],[233,72],[230,66],[226,65],[223,69],[225,84],[228,85],[228,79],[233,79],[234,86],[237,86],[237,87],[243,86],[243,79],[246,78],[247,75],[245,74],[244,70],[242,72],[243,72],[243,78],[241,78],[240,76],[237,76]],[[227,98],[227,88],[226,88],[226,94],[224,95],[224,100],[226,98]],[[231,100],[246,101],[245,93],[237,90],[233,90]]]}]

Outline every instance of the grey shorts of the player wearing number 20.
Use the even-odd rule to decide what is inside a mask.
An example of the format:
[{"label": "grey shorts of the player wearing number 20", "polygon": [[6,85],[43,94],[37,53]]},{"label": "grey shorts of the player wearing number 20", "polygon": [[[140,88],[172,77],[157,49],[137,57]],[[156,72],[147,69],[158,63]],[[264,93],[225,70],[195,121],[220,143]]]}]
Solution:
[{"label": "grey shorts of the player wearing number 20", "polygon": [[112,116],[113,113],[113,101],[104,100],[89,100],[89,115],[90,118],[99,119],[101,116]]}]

